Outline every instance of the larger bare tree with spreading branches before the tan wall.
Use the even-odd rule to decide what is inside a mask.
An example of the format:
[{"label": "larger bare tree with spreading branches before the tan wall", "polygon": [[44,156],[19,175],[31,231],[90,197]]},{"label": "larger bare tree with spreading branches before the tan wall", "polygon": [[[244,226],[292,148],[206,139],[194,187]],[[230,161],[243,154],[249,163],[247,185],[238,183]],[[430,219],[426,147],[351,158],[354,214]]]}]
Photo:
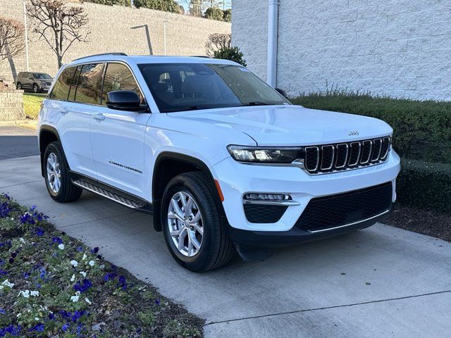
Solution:
[{"label": "larger bare tree with spreading branches before the tan wall", "polygon": [[65,0],[30,0],[27,15],[34,32],[44,39],[63,65],[63,56],[74,42],[87,42],[89,31],[83,32],[88,23],[85,8],[68,6]]}]

